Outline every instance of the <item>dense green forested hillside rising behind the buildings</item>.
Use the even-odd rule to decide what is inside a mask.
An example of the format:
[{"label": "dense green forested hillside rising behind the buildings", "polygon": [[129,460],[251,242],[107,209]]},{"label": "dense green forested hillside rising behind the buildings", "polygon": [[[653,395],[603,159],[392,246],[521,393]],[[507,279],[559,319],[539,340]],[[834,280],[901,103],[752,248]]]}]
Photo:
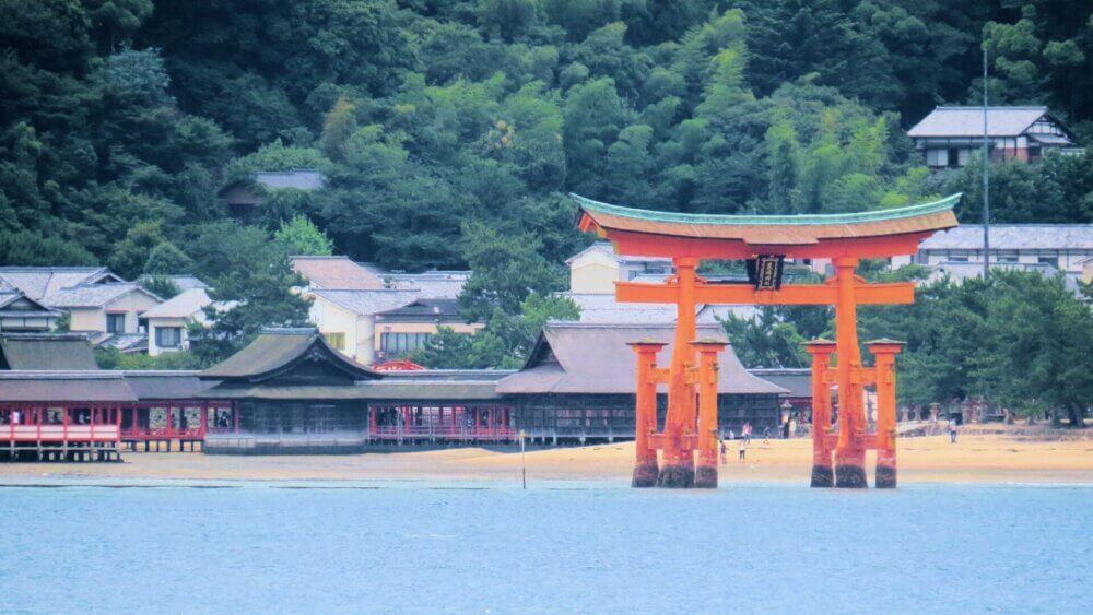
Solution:
[{"label": "dense green forested hillside rising behind the buildings", "polygon": [[[215,192],[318,167],[304,213],[398,269],[550,275],[576,191],[690,212],[832,212],[975,191],[904,130],[978,100],[1093,116],[1083,0],[3,0],[0,262],[210,268]],[[996,173],[999,221],[1091,220],[1084,158]],[[968,199],[967,206],[976,203]],[[155,264],[155,263],[153,263]],[[544,288],[545,289],[545,288]]]}]

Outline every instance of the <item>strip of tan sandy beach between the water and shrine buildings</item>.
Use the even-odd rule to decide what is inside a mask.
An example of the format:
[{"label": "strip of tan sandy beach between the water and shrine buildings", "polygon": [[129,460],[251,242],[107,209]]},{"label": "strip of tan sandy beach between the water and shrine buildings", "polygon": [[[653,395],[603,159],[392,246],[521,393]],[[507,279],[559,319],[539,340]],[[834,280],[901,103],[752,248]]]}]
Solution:
[{"label": "strip of tan sandy beach between the water and shrine buildings", "polygon": [[[902,438],[900,481],[952,483],[1093,484],[1093,439],[1084,433],[991,428],[963,434],[951,445],[947,436]],[[807,483],[811,441],[753,440],[747,462],[729,447],[720,480],[731,482]],[[528,481],[627,483],[633,443],[559,447],[527,452]],[[519,451],[453,448],[352,456],[227,457],[201,453],[124,454],[124,463],[5,463],[0,483],[138,483],[145,481],[515,481],[520,480]],[[871,463],[871,459],[869,460]],[[872,477],[870,477],[870,481]]]}]

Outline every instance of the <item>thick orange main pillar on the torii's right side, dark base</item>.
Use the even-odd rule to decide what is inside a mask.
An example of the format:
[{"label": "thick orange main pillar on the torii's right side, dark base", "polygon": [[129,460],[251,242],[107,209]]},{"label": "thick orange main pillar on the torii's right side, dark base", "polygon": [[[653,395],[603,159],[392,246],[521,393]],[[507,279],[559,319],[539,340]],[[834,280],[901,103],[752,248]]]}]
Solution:
[{"label": "thick orange main pillar on the torii's right side, dark base", "polygon": [[861,403],[861,352],[858,350],[857,298],[854,268],[858,259],[834,259],[835,343],[838,365],[838,443],[835,447],[835,486],[861,489],[866,483],[866,449],[862,446],[866,416]]}]

